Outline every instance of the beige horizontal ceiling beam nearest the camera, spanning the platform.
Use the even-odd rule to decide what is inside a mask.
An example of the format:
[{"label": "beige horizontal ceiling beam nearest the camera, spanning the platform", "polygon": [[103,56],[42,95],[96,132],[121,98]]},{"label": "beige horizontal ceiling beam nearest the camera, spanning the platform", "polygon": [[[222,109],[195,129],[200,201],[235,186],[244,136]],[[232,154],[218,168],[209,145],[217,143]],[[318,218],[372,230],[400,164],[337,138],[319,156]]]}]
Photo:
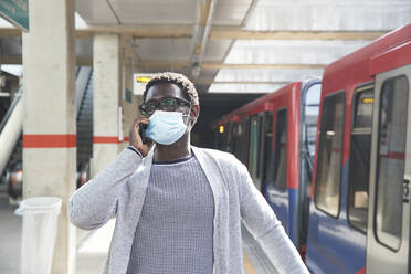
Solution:
[{"label": "beige horizontal ceiling beam nearest the camera, spanning the platform", "polygon": [[[192,38],[192,25],[88,25],[76,30],[77,38],[95,33],[117,33],[140,39]],[[388,31],[247,31],[241,28],[213,27],[211,40],[375,40]],[[15,28],[1,28],[0,36],[20,36]]]}]

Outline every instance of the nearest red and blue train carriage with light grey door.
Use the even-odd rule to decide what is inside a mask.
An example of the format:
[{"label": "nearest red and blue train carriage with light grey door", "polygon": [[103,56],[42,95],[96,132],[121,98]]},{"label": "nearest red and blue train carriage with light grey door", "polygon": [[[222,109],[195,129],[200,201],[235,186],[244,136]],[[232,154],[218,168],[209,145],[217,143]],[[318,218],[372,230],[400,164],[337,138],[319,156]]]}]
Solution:
[{"label": "nearest red and blue train carriage with light grey door", "polygon": [[410,273],[411,24],[325,68],[306,263]]}]

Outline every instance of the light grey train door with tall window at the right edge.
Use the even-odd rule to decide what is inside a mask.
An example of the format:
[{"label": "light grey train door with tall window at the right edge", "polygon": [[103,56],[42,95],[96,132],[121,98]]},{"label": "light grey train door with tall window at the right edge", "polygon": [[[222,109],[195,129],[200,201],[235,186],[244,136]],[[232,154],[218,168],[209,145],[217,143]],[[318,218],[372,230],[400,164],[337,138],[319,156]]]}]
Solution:
[{"label": "light grey train door with tall window at the right edge", "polygon": [[376,77],[367,273],[410,273],[411,65]]}]

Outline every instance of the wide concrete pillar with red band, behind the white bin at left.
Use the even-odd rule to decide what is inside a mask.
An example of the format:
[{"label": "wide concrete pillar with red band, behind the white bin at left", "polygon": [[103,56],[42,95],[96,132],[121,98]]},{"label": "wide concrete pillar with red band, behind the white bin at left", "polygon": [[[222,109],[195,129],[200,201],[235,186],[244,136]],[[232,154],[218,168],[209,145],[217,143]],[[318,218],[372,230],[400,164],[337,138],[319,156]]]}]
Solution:
[{"label": "wide concrete pillar with red band, behind the white bin at left", "polygon": [[23,33],[23,198],[63,199],[52,273],[75,272],[75,228],[67,200],[75,190],[76,114],[74,0],[29,1]]}]

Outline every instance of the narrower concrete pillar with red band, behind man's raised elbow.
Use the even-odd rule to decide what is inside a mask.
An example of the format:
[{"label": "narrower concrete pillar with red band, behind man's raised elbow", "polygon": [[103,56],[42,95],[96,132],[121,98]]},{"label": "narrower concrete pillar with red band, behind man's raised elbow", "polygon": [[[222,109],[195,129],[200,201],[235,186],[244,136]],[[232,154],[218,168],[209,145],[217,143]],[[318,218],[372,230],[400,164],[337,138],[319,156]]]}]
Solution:
[{"label": "narrower concrete pillar with red band, behind man's raised elbow", "polygon": [[119,152],[120,63],[119,35],[96,34],[93,43],[94,175],[112,162]]}]

